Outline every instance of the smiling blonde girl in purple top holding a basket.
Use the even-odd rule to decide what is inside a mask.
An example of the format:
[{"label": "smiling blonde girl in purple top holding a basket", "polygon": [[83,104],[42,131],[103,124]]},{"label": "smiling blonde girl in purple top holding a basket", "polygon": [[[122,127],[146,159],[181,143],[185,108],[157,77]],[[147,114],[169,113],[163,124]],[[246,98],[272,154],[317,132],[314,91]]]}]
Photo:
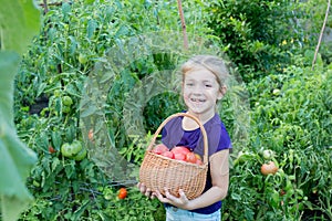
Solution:
[{"label": "smiling blonde girl in purple top holding a basket", "polygon": [[[205,190],[200,197],[188,200],[181,190],[177,198],[167,190],[163,196],[158,191],[152,192],[144,183],[137,186],[142,193],[151,198],[157,197],[165,203],[167,221],[220,221],[221,200],[228,191],[231,141],[216,113],[216,105],[226,94],[229,73],[224,61],[212,55],[191,57],[183,64],[181,73],[186,112],[200,120],[208,136],[209,169]],[[167,147],[186,146],[200,156],[204,154],[200,129],[188,117],[177,117],[168,122],[163,128],[162,140]]]}]

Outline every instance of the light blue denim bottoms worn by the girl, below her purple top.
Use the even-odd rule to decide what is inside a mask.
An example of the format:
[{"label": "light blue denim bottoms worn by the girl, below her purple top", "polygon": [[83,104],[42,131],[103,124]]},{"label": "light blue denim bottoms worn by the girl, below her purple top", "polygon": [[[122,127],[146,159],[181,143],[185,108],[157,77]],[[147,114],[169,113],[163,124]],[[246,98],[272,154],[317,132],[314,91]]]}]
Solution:
[{"label": "light blue denim bottoms worn by the girl, below her purple top", "polygon": [[174,207],[166,207],[166,221],[220,221],[220,210],[217,210],[210,214],[201,214],[197,212],[190,212]]}]

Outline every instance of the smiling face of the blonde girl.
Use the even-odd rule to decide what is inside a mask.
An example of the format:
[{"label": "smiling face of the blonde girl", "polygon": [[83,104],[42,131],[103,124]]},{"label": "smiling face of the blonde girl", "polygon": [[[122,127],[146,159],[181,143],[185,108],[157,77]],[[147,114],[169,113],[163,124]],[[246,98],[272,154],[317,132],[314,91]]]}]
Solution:
[{"label": "smiling face of the blonde girl", "polygon": [[216,76],[206,69],[195,69],[185,74],[183,84],[188,112],[199,118],[212,117],[216,102],[222,97]]}]

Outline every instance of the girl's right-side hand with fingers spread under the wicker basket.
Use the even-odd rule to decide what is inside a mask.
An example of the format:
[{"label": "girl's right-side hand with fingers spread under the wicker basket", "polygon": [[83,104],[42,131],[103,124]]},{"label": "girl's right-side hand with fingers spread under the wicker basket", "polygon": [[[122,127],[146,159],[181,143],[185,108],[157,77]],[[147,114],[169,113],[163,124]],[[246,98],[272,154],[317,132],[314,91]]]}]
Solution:
[{"label": "girl's right-side hand with fingers spread under the wicker basket", "polygon": [[190,201],[188,200],[188,198],[186,197],[185,192],[181,189],[178,191],[178,193],[179,197],[177,198],[170,194],[167,189],[165,189],[165,197],[159,191],[156,191],[153,194],[155,194],[160,202],[169,203],[177,208],[188,210]]}]

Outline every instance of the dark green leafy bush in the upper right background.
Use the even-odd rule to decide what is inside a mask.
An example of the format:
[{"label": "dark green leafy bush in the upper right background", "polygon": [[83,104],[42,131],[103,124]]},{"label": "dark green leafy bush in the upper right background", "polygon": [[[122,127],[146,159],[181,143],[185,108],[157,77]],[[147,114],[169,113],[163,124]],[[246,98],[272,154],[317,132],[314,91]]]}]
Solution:
[{"label": "dark green leafy bush in the upper right background", "polygon": [[[309,3],[283,0],[217,0],[210,7],[208,24],[227,45],[245,82],[279,73],[291,64],[292,54],[313,46],[317,22],[323,15],[314,14]],[[315,25],[307,30],[309,20]]]}]

